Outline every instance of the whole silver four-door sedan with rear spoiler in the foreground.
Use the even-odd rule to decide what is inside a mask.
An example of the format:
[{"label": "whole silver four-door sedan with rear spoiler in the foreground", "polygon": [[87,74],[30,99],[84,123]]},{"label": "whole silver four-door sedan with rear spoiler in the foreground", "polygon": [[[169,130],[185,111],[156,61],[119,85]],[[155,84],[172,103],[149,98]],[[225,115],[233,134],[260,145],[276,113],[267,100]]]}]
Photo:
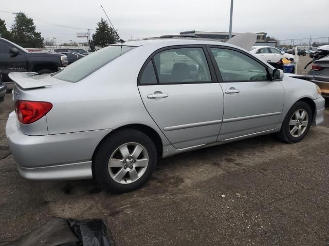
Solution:
[{"label": "whole silver four-door sedan with rear spoiler in the foreground", "polygon": [[51,75],[9,76],[20,174],[95,177],[114,192],[142,186],[160,157],[270,133],[298,142],[323,121],[315,84],[213,40],[126,42]]}]

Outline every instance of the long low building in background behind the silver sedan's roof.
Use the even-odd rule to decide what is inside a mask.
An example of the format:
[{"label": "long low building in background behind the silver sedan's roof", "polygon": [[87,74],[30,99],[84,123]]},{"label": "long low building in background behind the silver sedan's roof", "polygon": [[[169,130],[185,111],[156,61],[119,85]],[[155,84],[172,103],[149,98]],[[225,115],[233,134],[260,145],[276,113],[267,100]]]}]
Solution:
[{"label": "long low building in background behind the silver sedan's roof", "polygon": [[[232,37],[241,32],[232,32]],[[202,31],[185,31],[180,32],[180,35],[191,35],[191,36],[199,36],[203,38],[212,38],[220,40],[221,42],[226,42],[228,40],[228,32],[202,32]],[[276,46],[275,41],[266,41],[267,33],[266,32],[257,32],[257,42],[254,44],[255,46]]]}]

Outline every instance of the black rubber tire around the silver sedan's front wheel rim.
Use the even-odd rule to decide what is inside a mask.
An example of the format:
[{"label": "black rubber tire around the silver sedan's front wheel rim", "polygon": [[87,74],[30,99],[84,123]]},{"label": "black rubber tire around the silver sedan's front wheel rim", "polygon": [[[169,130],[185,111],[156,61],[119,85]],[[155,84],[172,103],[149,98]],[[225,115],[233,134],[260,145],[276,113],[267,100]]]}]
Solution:
[{"label": "black rubber tire around the silver sedan's front wheel rim", "polygon": [[[300,136],[294,137],[290,133],[289,122],[290,122],[291,117],[293,117],[295,112],[299,109],[306,110],[307,115],[308,115],[308,124],[307,124],[305,131]],[[289,144],[291,144],[293,142],[299,142],[306,136],[307,132],[309,131],[310,125],[312,124],[312,120],[313,120],[313,114],[312,114],[312,110],[309,107],[309,105],[307,103],[305,103],[304,101],[298,101],[288,111],[286,117],[283,120],[281,130],[280,130],[280,132],[277,133],[277,136],[282,141],[288,142]]]}]

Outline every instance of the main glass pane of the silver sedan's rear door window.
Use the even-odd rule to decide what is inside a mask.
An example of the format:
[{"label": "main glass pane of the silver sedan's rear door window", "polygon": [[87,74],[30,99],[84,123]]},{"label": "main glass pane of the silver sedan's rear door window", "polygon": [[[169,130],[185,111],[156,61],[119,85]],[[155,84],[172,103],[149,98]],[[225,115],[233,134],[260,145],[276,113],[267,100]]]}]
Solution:
[{"label": "main glass pane of the silver sedan's rear door window", "polygon": [[159,83],[198,83],[211,81],[202,48],[177,48],[153,57]]}]

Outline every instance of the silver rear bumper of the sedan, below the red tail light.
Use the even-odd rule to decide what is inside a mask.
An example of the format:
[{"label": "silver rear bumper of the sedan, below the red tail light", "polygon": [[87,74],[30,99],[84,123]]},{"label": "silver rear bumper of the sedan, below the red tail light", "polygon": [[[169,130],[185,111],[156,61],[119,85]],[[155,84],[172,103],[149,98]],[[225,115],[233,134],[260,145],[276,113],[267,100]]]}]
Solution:
[{"label": "silver rear bumper of the sedan, below the red tail light", "polygon": [[20,174],[34,180],[92,178],[92,157],[111,129],[28,136],[19,130],[16,115],[9,114],[6,135]]}]

